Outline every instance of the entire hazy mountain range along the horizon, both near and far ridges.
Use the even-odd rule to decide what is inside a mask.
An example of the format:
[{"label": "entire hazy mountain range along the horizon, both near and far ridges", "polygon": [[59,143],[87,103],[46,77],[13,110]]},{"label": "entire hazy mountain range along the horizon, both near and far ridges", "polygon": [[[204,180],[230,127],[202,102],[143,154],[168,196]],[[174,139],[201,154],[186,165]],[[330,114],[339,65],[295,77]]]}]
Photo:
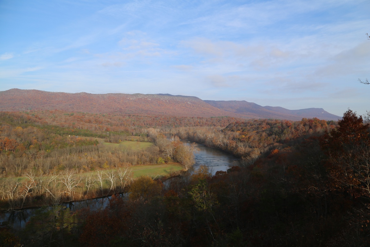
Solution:
[{"label": "entire hazy mountain range along the horizon, both near and far ridges", "polygon": [[201,100],[194,96],[171,94],[90,94],[10,89],[0,91],[0,111],[64,110],[88,113],[121,113],[186,117],[230,116],[301,120],[317,117],[338,120],[341,117],[322,108],[288,110],[260,106],[247,101]]}]

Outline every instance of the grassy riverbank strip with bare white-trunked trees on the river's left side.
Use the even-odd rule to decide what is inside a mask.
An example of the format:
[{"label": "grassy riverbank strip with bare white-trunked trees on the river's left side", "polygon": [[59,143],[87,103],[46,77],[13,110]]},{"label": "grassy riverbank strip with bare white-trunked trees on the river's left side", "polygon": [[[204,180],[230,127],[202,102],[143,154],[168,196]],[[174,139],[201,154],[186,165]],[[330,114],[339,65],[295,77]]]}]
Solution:
[{"label": "grassy riverbank strip with bare white-trunked trees on the river's left side", "polygon": [[[125,190],[126,185],[138,177],[149,176],[153,179],[171,177],[178,174],[182,169],[183,167],[179,163],[165,163],[88,171],[78,174],[61,173],[58,176],[44,176],[41,180],[34,177],[33,181],[29,177],[1,178],[0,182],[6,186],[23,183],[24,186],[30,186],[32,184],[33,188],[38,186],[40,180],[43,181],[42,183],[53,184],[54,191],[48,188],[47,191],[40,193],[40,195],[33,195],[33,200],[25,201],[23,207],[20,206],[22,205],[22,195],[13,201],[3,200],[0,204],[0,211],[21,210],[45,205],[69,203],[71,201],[94,199],[108,194],[120,193]],[[60,191],[61,184],[66,185],[71,190]],[[22,191],[24,193],[23,196],[27,196],[27,191]]]}]

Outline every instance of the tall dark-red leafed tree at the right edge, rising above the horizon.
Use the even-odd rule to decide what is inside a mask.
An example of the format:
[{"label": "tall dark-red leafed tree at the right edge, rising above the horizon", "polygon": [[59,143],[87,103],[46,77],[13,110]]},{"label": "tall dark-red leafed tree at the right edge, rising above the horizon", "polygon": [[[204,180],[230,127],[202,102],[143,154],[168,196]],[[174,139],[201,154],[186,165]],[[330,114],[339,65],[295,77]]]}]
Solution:
[{"label": "tall dark-red leafed tree at the right edge, rising above the horizon", "polygon": [[324,134],[322,147],[329,157],[334,186],[370,197],[369,124],[347,110],[338,127]]}]

